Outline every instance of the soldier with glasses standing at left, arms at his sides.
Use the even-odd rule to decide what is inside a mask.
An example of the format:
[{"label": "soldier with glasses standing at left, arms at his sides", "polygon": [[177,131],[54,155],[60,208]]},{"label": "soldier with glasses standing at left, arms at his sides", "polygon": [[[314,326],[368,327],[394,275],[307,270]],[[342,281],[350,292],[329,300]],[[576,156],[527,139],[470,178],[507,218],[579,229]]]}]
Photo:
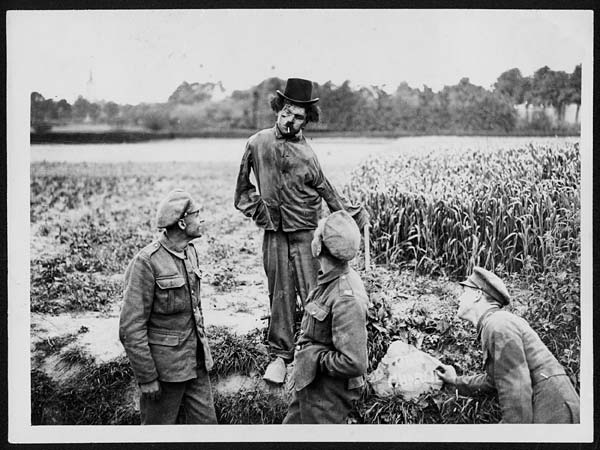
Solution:
[{"label": "soldier with glasses standing at left, arms at his sides", "polygon": [[158,241],[125,272],[119,338],[141,390],[142,424],[216,423],[200,305],[199,206],[181,189],[160,203]]}]

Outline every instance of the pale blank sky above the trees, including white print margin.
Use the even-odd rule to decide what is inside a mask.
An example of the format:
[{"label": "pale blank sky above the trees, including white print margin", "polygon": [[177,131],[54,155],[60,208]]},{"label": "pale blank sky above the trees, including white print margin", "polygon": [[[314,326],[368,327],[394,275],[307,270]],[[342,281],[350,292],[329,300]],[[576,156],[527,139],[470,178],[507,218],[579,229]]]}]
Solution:
[{"label": "pale blank sky above the trees, including white print margin", "polygon": [[221,81],[230,93],[272,76],[389,92],[403,81],[438,91],[467,77],[490,88],[514,67],[571,73],[592,50],[592,11],[7,13],[9,67],[18,61],[30,91],[69,102],[164,102],[183,81]]}]

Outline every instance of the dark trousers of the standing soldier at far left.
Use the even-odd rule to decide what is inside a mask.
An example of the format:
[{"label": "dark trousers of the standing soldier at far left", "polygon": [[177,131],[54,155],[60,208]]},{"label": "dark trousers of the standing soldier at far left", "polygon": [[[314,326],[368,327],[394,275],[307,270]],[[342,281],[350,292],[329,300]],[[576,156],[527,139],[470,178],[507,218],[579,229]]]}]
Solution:
[{"label": "dark trousers of the standing soldier at far left", "polygon": [[158,400],[140,398],[142,425],[217,423],[210,378],[205,369],[180,383],[160,381]]}]

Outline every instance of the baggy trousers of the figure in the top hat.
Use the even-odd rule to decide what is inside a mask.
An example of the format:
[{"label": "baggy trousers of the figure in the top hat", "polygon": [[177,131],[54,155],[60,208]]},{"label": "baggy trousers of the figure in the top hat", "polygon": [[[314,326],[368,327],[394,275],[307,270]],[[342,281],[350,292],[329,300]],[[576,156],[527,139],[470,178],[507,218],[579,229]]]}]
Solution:
[{"label": "baggy trousers of the figure in the top hat", "polygon": [[271,321],[269,351],[286,361],[294,358],[296,296],[302,305],[317,282],[319,261],[310,243],[314,230],[268,231],[263,239],[263,264],[269,285]]}]

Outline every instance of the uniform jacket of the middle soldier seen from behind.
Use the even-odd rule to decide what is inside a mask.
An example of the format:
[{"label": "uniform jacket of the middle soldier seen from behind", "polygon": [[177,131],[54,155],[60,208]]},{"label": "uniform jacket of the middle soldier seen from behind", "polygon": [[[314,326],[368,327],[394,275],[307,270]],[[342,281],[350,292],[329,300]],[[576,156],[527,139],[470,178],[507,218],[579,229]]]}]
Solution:
[{"label": "uniform jacket of the middle soldier seen from behind", "polygon": [[367,371],[368,297],[358,274],[347,263],[319,272],[306,300],[295,354],[296,390],[319,373],[348,380],[348,389],[364,384]]}]

